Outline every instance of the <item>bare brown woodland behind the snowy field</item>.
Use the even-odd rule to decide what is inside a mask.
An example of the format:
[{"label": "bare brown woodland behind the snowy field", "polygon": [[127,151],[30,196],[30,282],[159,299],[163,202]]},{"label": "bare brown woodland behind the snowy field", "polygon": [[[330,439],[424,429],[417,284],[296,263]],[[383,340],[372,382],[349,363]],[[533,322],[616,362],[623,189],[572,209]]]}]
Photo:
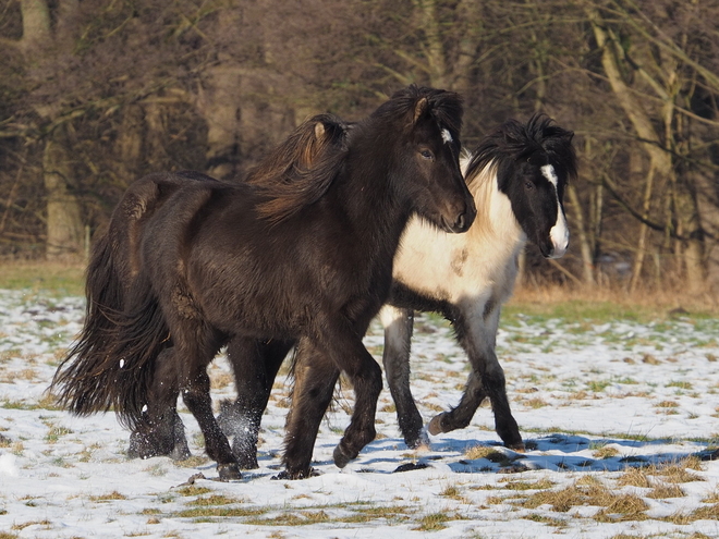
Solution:
[{"label": "bare brown woodland behind the snowy field", "polygon": [[0,260],[82,259],[141,175],[241,176],[417,83],[468,148],[575,132],[572,246],[526,282],[719,301],[718,48],[719,0],[0,0]]}]

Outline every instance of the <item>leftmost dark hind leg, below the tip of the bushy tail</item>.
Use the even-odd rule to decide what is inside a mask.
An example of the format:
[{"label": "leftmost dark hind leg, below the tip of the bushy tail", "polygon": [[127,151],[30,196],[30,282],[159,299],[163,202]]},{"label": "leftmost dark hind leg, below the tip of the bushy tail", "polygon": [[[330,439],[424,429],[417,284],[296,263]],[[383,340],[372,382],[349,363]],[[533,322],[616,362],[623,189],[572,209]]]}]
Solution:
[{"label": "leftmost dark hind leg, below the tip of the bushy tail", "polygon": [[130,436],[130,458],[170,456],[182,461],[190,456],[185,428],[178,415],[176,365],[172,348],[157,358],[153,384],[147,395],[143,420]]}]

